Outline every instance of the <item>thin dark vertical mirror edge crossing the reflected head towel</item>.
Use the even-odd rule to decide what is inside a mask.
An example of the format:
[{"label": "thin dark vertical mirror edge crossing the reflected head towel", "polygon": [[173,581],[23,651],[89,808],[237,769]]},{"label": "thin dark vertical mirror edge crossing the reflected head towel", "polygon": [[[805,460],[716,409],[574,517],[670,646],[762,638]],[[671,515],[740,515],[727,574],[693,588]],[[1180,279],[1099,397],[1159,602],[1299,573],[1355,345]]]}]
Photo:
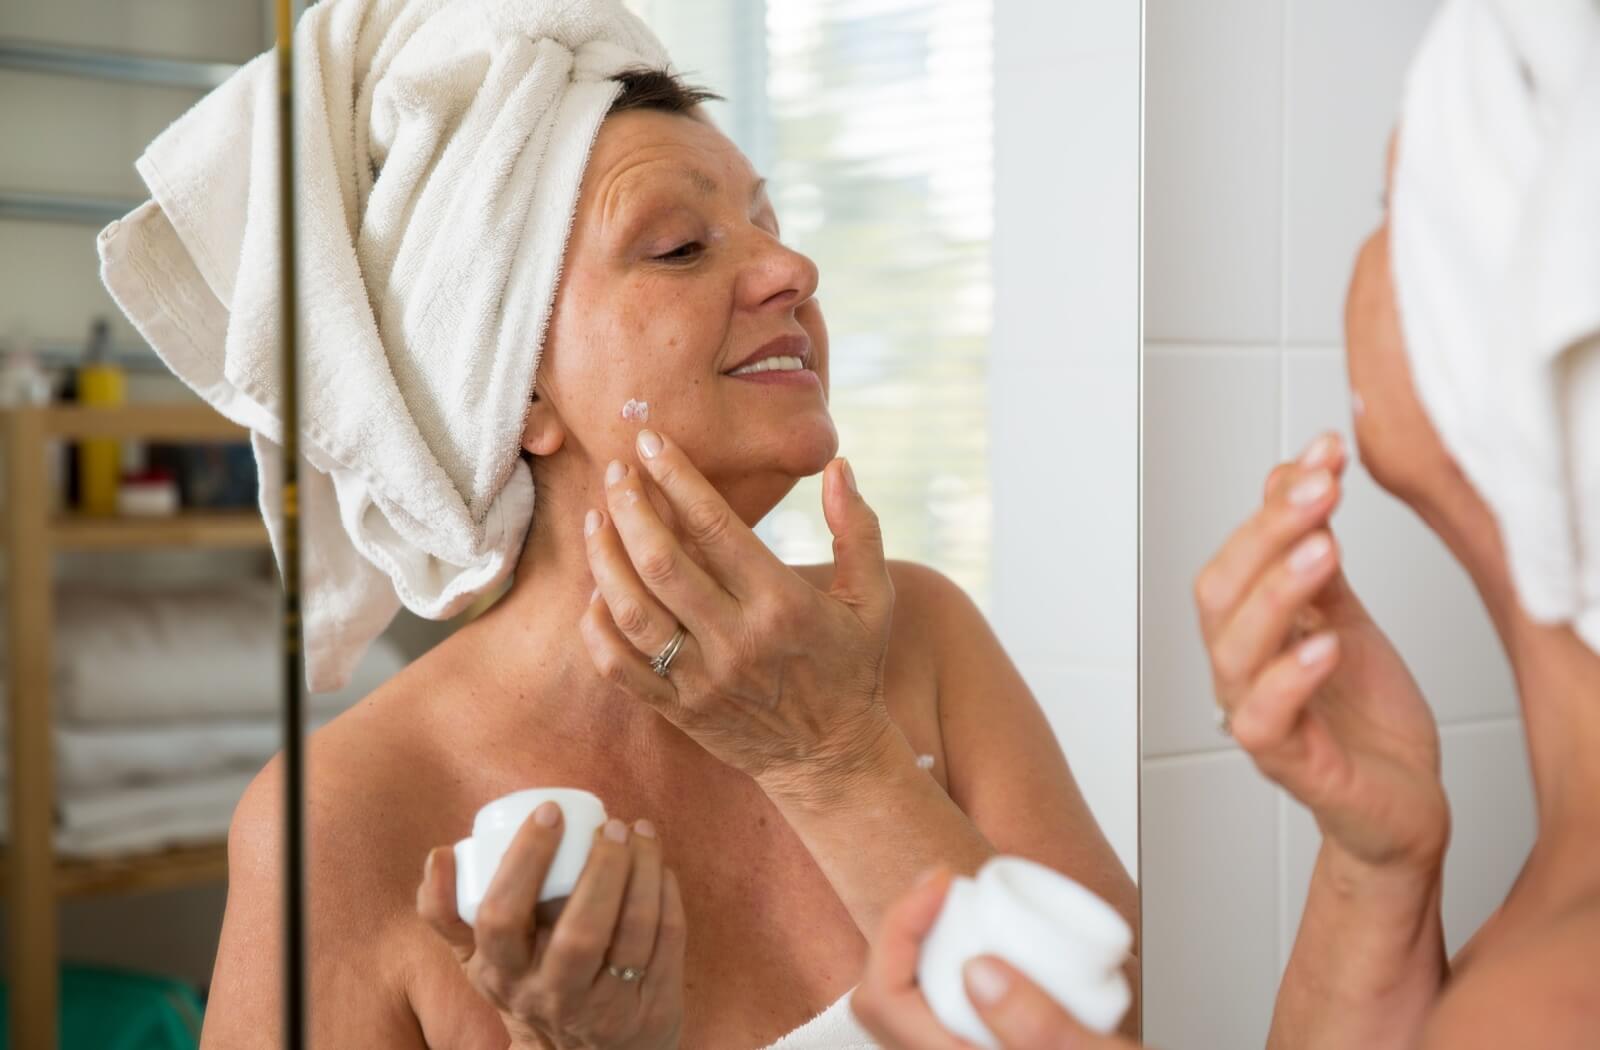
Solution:
[{"label": "thin dark vertical mirror edge crossing the reflected head towel", "polygon": [[301,650],[294,3],[278,0],[278,264],[283,282],[283,1045],[306,1047],[306,656]]}]

